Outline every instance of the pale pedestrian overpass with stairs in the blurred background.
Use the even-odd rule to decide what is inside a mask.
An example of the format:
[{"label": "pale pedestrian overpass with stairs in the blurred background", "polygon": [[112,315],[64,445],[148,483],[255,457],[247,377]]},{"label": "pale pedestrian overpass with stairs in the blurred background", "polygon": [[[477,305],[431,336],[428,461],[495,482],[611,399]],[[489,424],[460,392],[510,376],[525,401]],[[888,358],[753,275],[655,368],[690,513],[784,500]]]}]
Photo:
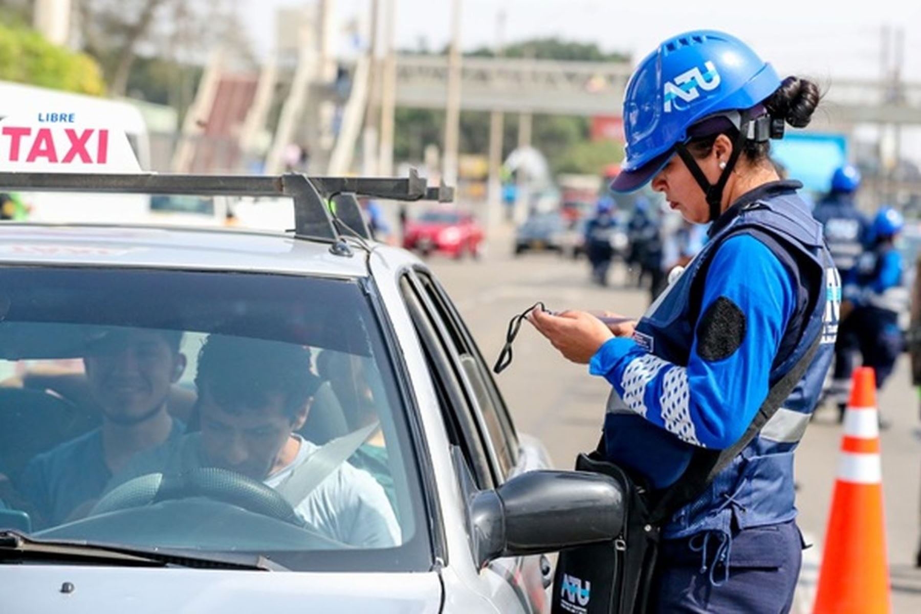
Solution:
[{"label": "pale pedestrian overpass with stairs in the blurred background", "polygon": [[[317,126],[328,123],[321,115],[305,115],[306,110],[321,108],[324,104],[328,107],[339,105],[341,121],[332,145],[311,145],[314,160],[311,164],[334,173],[346,172],[354,167],[354,153],[359,150],[358,143],[363,136],[366,140],[361,149],[366,150],[366,157],[370,149],[373,159],[378,147],[368,147],[367,132],[362,134],[362,126],[373,117],[368,110],[380,104],[369,91],[375,73],[386,73],[388,64],[372,62],[367,57],[351,65],[338,62],[339,75],[351,75],[351,87],[344,92],[338,80],[334,83],[329,78],[330,74],[337,74],[335,66],[332,72],[324,72],[311,58],[309,50],[304,50],[304,57],[293,70],[270,63],[263,67],[261,75],[242,78],[244,82],[249,79],[248,83],[242,83],[240,75],[229,74],[219,67],[215,71],[206,70],[207,78],[203,82],[211,86],[199,87],[201,99],[196,98],[194,111],[188,114],[187,124],[191,128],[183,129],[181,155],[177,156],[181,163],[176,169],[232,171],[234,166],[239,166],[239,160],[265,156],[267,166],[277,170],[279,153],[286,144],[295,141],[301,126],[313,126],[316,132]],[[448,56],[400,54],[390,65],[393,66],[390,78],[394,106],[445,109],[450,72]],[[492,114],[490,168],[497,177],[504,115],[517,116],[519,145],[530,145],[531,117],[535,113],[617,116],[632,69],[630,63],[465,57],[460,69],[461,110]],[[220,92],[229,91],[225,81],[236,84],[232,89],[241,95],[221,95]],[[231,98],[239,102],[239,108],[234,109],[230,118],[233,121],[220,122],[221,130],[211,131],[216,133],[205,131],[203,135],[202,130],[197,129],[196,135],[196,126],[216,125],[217,116],[227,115],[227,112],[217,111],[227,106]],[[279,105],[281,119],[272,125],[271,110],[278,109]],[[389,118],[392,125],[392,107],[384,105],[381,117]],[[921,126],[921,83],[893,87],[892,82],[883,80],[835,79],[828,84],[810,130],[847,133],[857,124],[865,123]],[[261,133],[274,135],[267,155],[264,149],[253,146]],[[208,143],[196,141],[202,136],[218,146],[209,149]],[[391,147],[385,140],[379,147],[381,155]],[[207,168],[200,168],[203,164]]]}]

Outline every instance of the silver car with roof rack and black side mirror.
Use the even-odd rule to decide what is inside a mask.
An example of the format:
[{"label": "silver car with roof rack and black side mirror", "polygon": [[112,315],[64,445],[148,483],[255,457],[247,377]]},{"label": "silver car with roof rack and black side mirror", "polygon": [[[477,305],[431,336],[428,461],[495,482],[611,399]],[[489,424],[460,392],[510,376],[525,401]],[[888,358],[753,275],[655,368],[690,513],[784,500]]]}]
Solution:
[{"label": "silver car with roof rack and black side mirror", "polygon": [[621,533],[622,493],[548,469],[435,276],[355,200],[444,189],[0,172],[0,191],[292,205],[287,232],[0,224],[4,611],[545,612],[543,554]]}]

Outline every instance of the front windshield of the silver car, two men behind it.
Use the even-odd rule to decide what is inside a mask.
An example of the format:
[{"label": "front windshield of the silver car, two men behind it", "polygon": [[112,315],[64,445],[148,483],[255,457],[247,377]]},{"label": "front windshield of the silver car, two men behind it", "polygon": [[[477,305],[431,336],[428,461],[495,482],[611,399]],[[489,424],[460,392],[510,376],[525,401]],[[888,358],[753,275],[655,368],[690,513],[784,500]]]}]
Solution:
[{"label": "front windshield of the silver car, two men behind it", "polygon": [[0,269],[0,529],[427,570],[414,446],[364,283]]}]

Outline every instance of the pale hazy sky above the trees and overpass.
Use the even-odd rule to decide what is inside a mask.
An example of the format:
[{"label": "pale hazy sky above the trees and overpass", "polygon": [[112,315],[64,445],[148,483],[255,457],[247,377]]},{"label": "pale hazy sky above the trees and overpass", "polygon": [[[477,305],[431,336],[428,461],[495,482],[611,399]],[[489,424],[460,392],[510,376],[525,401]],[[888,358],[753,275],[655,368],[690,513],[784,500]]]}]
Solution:
[{"label": "pale hazy sky above the trees and overpass", "polygon": [[[332,0],[340,20],[369,13],[370,0]],[[382,0],[383,1],[383,0]],[[449,40],[451,0],[395,0],[401,48],[425,40],[439,49]],[[461,47],[495,45],[499,14],[506,42],[556,36],[596,42],[605,51],[630,52],[638,62],[659,41],[688,29],[722,29],[748,42],[784,74],[820,83],[881,71],[883,26],[904,27],[904,78],[921,81],[921,3],[772,0],[461,0]],[[261,54],[272,48],[274,7],[305,0],[239,0],[239,14]]]}]

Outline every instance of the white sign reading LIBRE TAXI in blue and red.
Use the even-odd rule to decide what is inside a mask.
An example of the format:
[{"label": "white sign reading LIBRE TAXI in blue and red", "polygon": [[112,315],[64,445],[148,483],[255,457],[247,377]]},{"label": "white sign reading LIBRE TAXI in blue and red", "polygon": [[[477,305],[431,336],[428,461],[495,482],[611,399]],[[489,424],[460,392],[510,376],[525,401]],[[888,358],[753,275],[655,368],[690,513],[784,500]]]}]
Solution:
[{"label": "white sign reading LIBRE TAXI in blue and red", "polygon": [[85,111],[37,110],[0,120],[0,171],[137,173],[128,137]]}]

